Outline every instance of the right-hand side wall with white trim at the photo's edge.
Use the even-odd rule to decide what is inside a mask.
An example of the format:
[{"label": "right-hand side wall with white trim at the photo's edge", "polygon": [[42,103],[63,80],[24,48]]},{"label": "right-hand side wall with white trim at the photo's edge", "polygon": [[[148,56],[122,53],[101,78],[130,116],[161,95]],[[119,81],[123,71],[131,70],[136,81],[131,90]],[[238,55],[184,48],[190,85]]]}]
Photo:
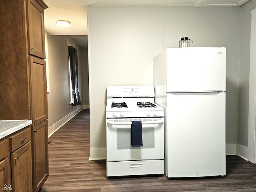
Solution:
[{"label": "right-hand side wall with white trim at the photo's edge", "polygon": [[[251,0],[250,2],[248,2],[247,4],[241,7],[238,146],[248,146],[247,153],[243,156],[248,156],[248,160],[256,163],[256,157],[255,157],[255,110],[256,110],[256,106],[255,106],[255,85],[256,85],[255,16],[252,22],[253,31],[251,34],[251,11],[254,9],[256,9],[255,0]],[[255,14],[255,11],[254,11],[254,14]]]}]

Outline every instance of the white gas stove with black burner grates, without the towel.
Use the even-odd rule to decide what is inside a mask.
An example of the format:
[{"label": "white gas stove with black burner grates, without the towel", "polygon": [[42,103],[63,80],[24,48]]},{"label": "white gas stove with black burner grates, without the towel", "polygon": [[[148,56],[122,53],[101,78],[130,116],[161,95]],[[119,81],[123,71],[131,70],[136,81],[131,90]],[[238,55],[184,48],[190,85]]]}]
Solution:
[{"label": "white gas stove with black burner grates, without the towel", "polygon": [[[131,145],[131,124],[141,121],[143,146]],[[154,86],[108,86],[107,177],[164,174],[164,109]]]}]

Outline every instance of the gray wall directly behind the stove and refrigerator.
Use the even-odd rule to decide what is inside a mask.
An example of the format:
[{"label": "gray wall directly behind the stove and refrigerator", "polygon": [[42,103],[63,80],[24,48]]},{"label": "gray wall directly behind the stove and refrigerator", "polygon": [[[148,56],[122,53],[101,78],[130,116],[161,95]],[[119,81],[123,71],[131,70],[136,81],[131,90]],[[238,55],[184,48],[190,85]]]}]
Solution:
[{"label": "gray wall directly behind the stove and refrigerator", "polygon": [[106,158],[106,87],[153,85],[154,56],[184,36],[227,48],[226,142],[237,143],[240,8],[88,6],[87,14],[90,158]]}]

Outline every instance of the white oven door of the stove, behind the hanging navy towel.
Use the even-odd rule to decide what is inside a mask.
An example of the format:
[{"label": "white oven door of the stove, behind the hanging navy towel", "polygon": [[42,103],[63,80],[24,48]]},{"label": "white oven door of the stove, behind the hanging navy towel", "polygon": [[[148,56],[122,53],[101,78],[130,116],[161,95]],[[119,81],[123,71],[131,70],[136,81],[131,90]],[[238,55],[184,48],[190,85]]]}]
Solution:
[{"label": "white oven door of the stove, behind the hanging navy towel", "polygon": [[131,145],[131,121],[107,119],[107,161],[164,159],[164,118],[142,119],[142,147]]}]

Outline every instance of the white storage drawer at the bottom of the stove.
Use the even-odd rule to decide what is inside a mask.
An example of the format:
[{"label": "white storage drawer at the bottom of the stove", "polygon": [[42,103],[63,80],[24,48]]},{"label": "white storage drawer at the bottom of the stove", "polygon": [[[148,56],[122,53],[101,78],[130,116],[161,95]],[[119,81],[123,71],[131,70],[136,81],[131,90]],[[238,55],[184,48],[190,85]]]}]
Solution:
[{"label": "white storage drawer at the bottom of the stove", "polygon": [[107,177],[164,174],[164,160],[107,162]]}]

